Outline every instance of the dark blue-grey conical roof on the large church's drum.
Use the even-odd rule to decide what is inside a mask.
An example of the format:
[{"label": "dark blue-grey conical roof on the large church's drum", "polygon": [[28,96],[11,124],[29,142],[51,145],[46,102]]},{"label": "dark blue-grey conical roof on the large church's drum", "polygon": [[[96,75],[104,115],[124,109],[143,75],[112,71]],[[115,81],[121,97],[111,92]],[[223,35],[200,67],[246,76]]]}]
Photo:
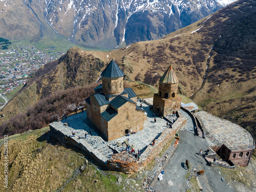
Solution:
[{"label": "dark blue-grey conical roof on the large church's drum", "polygon": [[116,62],[112,59],[108,66],[102,71],[101,76],[102,77],[109,77],[109,78],[115,78],[115,77],[122,77],[124,73],[122,70],[117,66]]}]

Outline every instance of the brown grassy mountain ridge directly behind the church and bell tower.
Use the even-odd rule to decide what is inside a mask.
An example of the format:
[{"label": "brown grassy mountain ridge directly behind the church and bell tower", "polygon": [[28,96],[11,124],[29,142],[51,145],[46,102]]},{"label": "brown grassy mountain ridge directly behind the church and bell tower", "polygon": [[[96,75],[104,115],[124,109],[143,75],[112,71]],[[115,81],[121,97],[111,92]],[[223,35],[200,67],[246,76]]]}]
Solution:
[{"label": "brown grassy mountain ridge directly behind the church and bell tower", "polygon": [[[111,53],[72,48],[53,69],[42,75],[38,72],[23,92],[34,84],[36,94],[32,95],[37,101],[56,90],[95,82],[114,54],[126,80],[155,87],[172,65],[183,94],[207,112],[255,130],[254,7],[254,1],[238,1],[162,39],[137,42]],[[11,105],[1,112],[5,117],[13,115],[8,110]]]}]

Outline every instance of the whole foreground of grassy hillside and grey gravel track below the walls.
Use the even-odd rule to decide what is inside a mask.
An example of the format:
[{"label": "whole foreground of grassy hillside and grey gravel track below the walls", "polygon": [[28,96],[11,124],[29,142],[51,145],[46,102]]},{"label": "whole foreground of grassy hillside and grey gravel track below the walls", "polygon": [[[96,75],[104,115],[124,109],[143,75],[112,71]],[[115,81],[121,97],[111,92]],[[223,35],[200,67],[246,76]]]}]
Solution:
[{"label": "whole foreground of grassy hillside and grey gravel track below the walls", "polygon": [[[61,145],[50,137],[49,127],[11,136],[8,188],[1,187],[0,191],[198,191],[198,183],[190,175],[194,168],[205,170],[199,177],[204,191],[256,191],[255,160],[247,167],[237,166],[236,169],[208,166],[198,155],[201,147],[207,149],[207,142],[194,136],[192,123],[188,120],[180,131],[176,148],[171,140],[152,163],[132,175],[105,170],[86,153]],[[3,140],[0,144],[0,164],[4,167]],[[184,164],[186,159],[190,171]],[[158,181],[161,170],[164,170],[163,180]],[[1,180],[3,172],[1,168]]]}]

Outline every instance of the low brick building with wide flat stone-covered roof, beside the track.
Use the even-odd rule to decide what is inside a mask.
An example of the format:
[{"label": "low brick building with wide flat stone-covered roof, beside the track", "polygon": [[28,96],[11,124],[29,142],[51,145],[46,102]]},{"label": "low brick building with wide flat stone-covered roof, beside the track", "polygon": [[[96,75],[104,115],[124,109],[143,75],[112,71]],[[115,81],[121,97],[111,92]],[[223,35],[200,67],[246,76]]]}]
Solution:
[{"label": "low brick building with wide flat stone-covered roof, beside the track", "polygon": [[194,113],[205,136],[212,142],[211,148],[224,161],[231,160],[247,166],[255,148],[252,135],[236,123],[221,119],[207,112]]}]

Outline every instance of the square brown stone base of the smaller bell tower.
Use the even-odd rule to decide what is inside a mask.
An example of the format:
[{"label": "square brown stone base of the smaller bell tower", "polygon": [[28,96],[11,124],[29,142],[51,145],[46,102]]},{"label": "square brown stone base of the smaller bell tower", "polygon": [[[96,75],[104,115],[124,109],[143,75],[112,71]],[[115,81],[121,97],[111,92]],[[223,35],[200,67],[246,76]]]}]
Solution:
[{"label": "square brown stone base of the smaller bell tower", "polygon": [[172,115],[173,111],[179,111],[181,105],[181,97],[164,99],[158,94],[154,94],[153,99],[153,111],[159,113],[161,116]]}]

